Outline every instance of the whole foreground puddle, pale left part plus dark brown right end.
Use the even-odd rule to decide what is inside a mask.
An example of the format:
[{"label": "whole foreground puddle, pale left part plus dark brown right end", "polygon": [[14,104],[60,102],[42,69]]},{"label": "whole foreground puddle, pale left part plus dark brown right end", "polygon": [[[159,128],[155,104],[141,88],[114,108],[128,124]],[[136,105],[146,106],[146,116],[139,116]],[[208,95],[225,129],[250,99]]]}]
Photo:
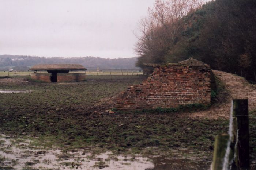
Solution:
[{"label": "whole foreground puddle, pale left part plus dark brown right end", "polygon": [[[63,153],[55,148],[44,150],[41,147],[30,146],[29,140],[15,140],[0,134],[0,167],[13,167],[14,169],[28,169],[28,167],[45,169],[67,170],[202,170],[210,169],[211,160],[199,159],[185,148],[172,151],[172,158],[164,156],[145,158],[141,155],[123,156],[112,152],[98,155],[77,150]],[[2,161],[2,162],[1,162]]]}]

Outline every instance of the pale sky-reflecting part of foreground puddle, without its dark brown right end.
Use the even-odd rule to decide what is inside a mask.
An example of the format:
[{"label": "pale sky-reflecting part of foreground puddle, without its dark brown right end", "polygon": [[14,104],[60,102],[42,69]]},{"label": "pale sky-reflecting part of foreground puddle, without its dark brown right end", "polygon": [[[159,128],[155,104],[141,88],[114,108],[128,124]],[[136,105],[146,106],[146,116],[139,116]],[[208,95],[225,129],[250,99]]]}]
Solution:
[{"label": "pale sky-reflecting part of foreground puddle, without its dark brown right end", "polygon": [[153,163],[148,158],[137,155],[113,155],[105,152],[99,155],[84,153],[83,150],[62,153],[61,150],[43,150],[40,147],[31,147],[30,141],[17,142],[14,139],[1,135],[0,138],[0,167],[13,167],[21,170],[27,167],[34,169],[91,169],[91,170],[145,170],[152,169]]}]

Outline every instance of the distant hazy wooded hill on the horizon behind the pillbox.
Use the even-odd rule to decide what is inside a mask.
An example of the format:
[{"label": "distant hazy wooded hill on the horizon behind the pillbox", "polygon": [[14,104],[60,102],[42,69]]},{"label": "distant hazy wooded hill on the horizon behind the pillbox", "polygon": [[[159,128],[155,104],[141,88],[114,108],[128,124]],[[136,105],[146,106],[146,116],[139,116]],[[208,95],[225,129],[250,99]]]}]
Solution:
[{"label": "distant hazy wooded hill on the horizon behind the pillbox", "polygon": [[135,67],[137,57],[132,58],[116,58],[106,59],[100,57],[37,57],[25,55],[0,55],[0,70],[8,70],[14,68],[15,70],[27,70],[35,64],[81,64],[88,70],[138,70]]}]

